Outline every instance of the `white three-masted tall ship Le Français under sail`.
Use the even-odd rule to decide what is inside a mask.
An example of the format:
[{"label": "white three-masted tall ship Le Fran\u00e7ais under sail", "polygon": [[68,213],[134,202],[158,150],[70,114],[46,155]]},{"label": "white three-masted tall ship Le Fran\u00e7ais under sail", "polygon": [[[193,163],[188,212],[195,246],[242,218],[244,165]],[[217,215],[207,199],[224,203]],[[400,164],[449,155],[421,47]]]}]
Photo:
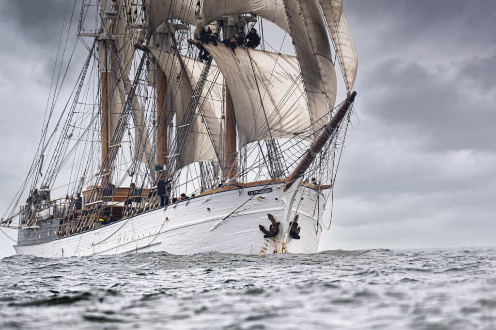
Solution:
[{"label": "white three-masted tall ship Le Fran\u00e7ais under sail", "polygon": [[64,21],[0,219],[17,254],[317,251],[356,96],[343,0],[68,1]]}]

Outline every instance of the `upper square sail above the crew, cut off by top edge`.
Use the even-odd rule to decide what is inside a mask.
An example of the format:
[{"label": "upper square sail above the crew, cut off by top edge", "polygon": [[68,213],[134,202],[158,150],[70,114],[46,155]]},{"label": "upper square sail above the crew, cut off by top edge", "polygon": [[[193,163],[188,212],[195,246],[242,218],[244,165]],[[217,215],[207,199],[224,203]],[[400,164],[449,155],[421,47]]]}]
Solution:
[{"label": "upper square sail above the crew, cut off by top edge", "polygon": [[202,21],[210,23],[224,15],[252,13],[273,22],[283,30],[288,29],[288,19],[283,0],[203,0]]}]

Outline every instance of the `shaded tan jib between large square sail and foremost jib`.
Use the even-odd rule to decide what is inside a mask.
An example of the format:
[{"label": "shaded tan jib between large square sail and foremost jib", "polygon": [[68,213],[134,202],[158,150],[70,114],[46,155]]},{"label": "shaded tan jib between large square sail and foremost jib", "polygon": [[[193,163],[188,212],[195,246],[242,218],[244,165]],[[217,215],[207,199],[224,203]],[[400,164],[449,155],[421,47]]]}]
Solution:
[{"label": "shaded tan jib between large square sail and foremost jib", "polygon": [[327,29],[317,0],[284,0],[291,36],[300,63],[315,125],[322,127],[326,117],[318,113],[334,107],[336,101],[336,71]]}]

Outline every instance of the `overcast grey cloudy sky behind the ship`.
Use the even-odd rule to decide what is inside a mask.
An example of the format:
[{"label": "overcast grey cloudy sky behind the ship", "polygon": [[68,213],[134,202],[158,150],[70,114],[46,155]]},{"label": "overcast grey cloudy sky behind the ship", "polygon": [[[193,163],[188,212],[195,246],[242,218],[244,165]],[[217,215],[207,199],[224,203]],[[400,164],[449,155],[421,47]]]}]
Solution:
[{"label": "overcast grey cloudy sky behind the ship", "polygon": [[[496,3],[344,2],[358,96],[319,250],[495,245]],[[0,3],[2,214],[38,146],[66,4]],[[11,246],[0,232],[0,257]]]}]

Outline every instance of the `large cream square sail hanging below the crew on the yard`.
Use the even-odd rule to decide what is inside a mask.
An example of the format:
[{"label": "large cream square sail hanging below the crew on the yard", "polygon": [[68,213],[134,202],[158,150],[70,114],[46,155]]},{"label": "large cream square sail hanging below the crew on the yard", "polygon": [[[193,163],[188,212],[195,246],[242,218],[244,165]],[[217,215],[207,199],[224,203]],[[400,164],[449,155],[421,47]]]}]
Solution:
[{"label": "large cream square sail hanging below the crew on the yard", "polygon": [[[319,126],[327,108],[310,111],[296,57],[257,50],[203,45],[215,59],[231,92],[240,147],[270,138],[291,138]],[[251,57],[251,61],[250,61]],[[317,124],[318,125],[318,124]],[[270,127],[270,130],[269,130]]]}]

